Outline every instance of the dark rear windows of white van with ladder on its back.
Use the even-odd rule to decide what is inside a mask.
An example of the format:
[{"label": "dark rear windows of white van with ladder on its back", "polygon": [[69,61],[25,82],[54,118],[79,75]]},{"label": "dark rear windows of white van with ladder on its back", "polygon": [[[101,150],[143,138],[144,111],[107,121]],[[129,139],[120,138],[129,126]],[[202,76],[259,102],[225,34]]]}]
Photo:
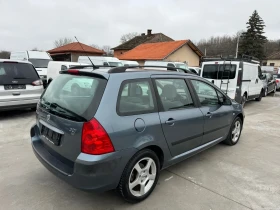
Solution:
[{"label": "dark rear windows of white van with ladder on its back", "polygon": [[205,64],[202,77],[208,79],[234,79],[236,75],[236,65],[230,64]]}]

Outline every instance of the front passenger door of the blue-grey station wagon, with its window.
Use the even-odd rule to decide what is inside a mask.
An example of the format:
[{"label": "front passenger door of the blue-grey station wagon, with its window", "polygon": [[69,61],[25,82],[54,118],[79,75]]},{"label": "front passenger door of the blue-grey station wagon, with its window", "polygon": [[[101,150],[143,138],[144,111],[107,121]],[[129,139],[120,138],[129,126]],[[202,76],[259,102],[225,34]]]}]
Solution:
[{"label": "front passenger door of the blue-grey station wagon, with its window", "polygon": [[228,135],[233,118],[230,100],[204,81],[191,80],[191,83],[197,93],[201,105],[200,109],[204,115],[202,144],[224,139]]}]

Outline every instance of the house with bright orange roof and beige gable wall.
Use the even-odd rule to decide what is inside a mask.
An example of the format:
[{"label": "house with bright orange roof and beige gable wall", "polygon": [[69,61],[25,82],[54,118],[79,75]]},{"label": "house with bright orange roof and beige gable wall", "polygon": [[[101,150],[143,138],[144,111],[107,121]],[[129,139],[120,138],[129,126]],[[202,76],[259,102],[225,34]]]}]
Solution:
[{"label": "house with bright orange roof and beige gable wall", "polygon": [[119,56],[120,60],[135,60],[144,65],[147,60],[187,62],[199,66],[203,53],[190,41],[170,41],[141,44]]}]

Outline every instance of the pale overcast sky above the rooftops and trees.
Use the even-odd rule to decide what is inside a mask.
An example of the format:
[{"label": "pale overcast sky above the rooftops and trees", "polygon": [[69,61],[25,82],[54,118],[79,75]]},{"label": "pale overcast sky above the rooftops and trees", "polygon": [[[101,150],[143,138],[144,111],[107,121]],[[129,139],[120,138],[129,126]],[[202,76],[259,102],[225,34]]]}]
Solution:
[{"label": "pale overcast sky above the rooftops and trees", "polygon": [[115,47],[123,34],[147,29],[198,42],[245,30],[255,9],[268,39],[280,39],[277,0],[0,0],[0,8],[0,51],[50,50],[74,36]]}]

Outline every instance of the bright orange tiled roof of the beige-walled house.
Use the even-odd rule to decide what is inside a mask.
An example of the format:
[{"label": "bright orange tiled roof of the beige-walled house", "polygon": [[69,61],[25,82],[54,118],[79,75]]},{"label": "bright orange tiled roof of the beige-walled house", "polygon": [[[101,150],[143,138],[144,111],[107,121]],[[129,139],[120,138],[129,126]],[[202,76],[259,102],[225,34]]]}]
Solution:
[{"label": "bright orange tiled roof of the beige-walled house", "polygon": [[119,59],[120,60],[163,60],[185,44],[188,44],[188,46],[198,56],[203,56],[203,53],[190,40],[180,40],[180,41],[173,41],[173,42],[141,44],[138,47],[130,51],[127,51],[123,55],[119,56]]}]

